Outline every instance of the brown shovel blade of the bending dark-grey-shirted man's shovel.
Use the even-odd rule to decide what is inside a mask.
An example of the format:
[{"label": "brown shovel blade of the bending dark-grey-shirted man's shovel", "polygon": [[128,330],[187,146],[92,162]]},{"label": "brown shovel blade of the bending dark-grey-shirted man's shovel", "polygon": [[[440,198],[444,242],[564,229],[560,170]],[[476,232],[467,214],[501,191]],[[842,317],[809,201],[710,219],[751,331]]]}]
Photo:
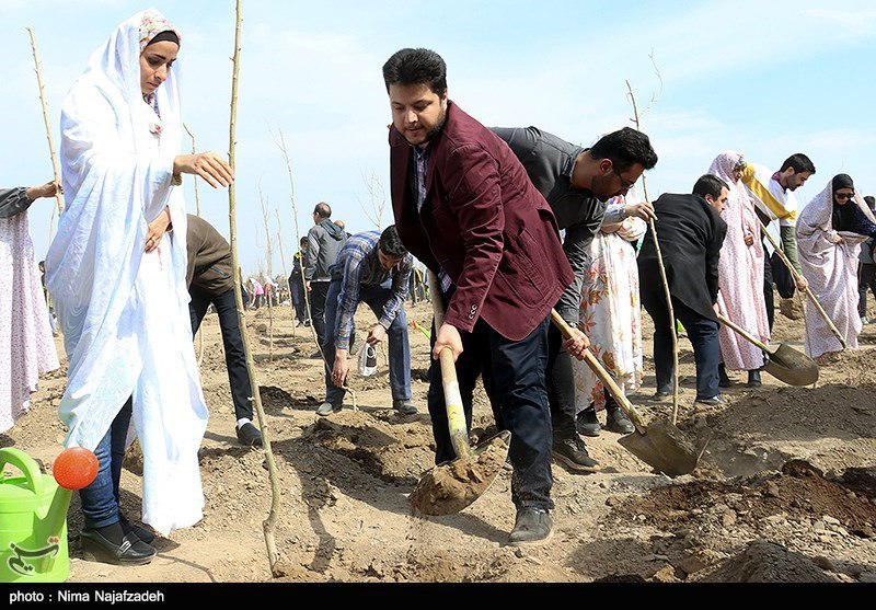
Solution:
[{"label": "brown shovel blade of the bending dark-grey-shirted man's shovel", "polygon": [[618,442],[668,476],[690,474],[700,461],[694,444],[667,418],[649,424],[645,434],[635,431],[621,437]]}]

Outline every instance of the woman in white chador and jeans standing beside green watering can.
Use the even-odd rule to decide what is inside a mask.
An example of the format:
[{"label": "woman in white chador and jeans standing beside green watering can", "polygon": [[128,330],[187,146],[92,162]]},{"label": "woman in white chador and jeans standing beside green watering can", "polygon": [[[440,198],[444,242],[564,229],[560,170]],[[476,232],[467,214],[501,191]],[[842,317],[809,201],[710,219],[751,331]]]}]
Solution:
[{"label": "woman in white chador and jeans standing beside green watering can", "polygon": [[142,521],[169,534],[201,518],[207,426],[186,289],[182,173],[227,186],[212,152],[181,156],[180,34],[150,9],[91,57],[61,110],[67,209],[46,257],[69,358],[59,407],[68,447],[95,452],[80,492],[87,557],[146,563],[145,528],[118,510],[129,423],[143,452]]}]

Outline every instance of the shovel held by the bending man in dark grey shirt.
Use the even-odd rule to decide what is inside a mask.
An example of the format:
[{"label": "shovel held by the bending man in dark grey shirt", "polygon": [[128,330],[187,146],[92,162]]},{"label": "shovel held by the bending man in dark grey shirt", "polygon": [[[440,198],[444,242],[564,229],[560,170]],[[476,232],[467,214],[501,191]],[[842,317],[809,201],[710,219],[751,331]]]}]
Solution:
[{"label": "shovel held by the bending man in dark grey shirt", "polygon": [[[556,310],[551,310],[551,319],[560,329],[560,332],[563,333],[564,338],[572,336],[572,329]],[[642,415],[638,414],[623,391],[614,383],[614,379],[602,368],[602,365],[599,364],[599,360],[589,349],[584,352],[584,361],[587,362],[587,366],[611,392],[611,395],[618,402],[618,406],[630,417],[636,428],[636,431],[618,439],[621,447],[668,476],[680,476],[693,472],[700,461],[701,453],[696,451],[696,447],[684,433],[666,417],[649,426],[645,425]]]}]

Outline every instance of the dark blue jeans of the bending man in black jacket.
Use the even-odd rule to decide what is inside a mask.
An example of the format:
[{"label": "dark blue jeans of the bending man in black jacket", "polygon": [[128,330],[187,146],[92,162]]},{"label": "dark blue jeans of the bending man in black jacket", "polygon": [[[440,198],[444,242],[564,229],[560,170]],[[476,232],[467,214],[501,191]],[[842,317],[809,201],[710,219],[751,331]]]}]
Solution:
[{"label": "dark blue jeans of the bending man in black jacket", "polygon": [[[642,304],[654,320],[654,368],[657,375],[657,390],[672,392],[672,335],[669,331],[669,309],[666,307],[666,298],[662,294],[643,292]],[[684,325],[688,338],[693,345],[693,358],[696,361],[696,398],[711,399],[719,395],[718,323],[703,318],[675,297],[672,297],[672,309],[676,319]]]}]

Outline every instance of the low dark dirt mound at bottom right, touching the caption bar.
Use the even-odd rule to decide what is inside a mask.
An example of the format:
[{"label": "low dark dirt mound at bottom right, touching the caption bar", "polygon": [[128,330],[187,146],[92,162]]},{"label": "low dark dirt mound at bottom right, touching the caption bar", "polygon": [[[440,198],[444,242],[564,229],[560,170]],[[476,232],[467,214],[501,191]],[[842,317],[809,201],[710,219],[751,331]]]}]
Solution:
[{"label": "low dark dirt mound at bottom right, touching the caption bar", "polygon": [[701,583],[837,583],[809,557],[772,542],[752,542],[714,571],[698,575]]}]

